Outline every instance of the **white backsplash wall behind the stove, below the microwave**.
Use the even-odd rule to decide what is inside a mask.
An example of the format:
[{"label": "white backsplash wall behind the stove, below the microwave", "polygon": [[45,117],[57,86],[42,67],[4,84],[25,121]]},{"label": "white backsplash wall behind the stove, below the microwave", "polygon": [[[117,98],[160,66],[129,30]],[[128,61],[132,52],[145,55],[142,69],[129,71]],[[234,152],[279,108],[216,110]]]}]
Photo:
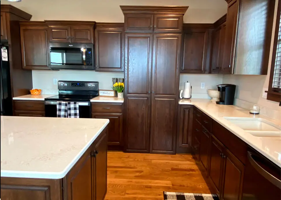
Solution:
[{"label": "white backsplash wall behind the stove, below the microwave", "polygon": [[111,90],[112,78],[124,78],[124,72],[95,72],[88,70],[32,70],[33,88],[42,90],[42,94],[57,94],[58,81],[98,81],[99,89]]}]

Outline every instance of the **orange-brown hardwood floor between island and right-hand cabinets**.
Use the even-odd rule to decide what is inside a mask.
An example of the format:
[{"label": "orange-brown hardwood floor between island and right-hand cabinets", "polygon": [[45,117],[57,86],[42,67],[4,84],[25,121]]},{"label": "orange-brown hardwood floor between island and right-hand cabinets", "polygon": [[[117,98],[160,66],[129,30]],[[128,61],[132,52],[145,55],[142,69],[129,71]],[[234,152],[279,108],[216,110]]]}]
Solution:
[{"label": "orange-brown hardwood floor between island and right-hand cabinets", "polygon": [[163,200],[163,191],[212,193],[190,154],[108,152],[105,199]]}]

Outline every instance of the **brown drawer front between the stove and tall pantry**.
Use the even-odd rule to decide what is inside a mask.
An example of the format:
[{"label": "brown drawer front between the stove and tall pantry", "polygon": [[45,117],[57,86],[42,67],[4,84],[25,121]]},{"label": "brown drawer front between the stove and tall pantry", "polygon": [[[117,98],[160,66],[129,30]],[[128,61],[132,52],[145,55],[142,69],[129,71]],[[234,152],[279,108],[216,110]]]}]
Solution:
[{"label": "brown drawer front between the stove and tall pantry", "polygon": [[121,113],[122,104],[121,103],[92,103],[92,112],[97,113]]}]

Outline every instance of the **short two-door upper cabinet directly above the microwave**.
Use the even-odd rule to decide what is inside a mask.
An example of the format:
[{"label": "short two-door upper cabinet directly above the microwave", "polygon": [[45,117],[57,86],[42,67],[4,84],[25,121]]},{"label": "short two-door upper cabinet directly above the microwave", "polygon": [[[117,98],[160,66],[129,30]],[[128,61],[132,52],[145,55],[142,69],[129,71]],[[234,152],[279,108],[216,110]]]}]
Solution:
[{"label": "short two-door upper cabinet directly above the microwave", "polygon": [[45,21],[49,26],[49,42],[93,43],[95,22]]}]

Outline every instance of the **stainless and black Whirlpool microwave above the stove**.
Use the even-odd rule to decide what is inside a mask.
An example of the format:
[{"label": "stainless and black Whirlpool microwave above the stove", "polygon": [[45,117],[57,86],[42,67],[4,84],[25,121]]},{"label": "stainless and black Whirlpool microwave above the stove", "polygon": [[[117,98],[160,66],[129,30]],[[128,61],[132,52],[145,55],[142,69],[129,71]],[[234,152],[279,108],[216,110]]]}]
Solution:
[{"label": "stainless and black Whirlpool microwave above the stove", "polygon": [[83,43],[49,43],[50,64],[54,70],[94,70],[94,46]]}]

